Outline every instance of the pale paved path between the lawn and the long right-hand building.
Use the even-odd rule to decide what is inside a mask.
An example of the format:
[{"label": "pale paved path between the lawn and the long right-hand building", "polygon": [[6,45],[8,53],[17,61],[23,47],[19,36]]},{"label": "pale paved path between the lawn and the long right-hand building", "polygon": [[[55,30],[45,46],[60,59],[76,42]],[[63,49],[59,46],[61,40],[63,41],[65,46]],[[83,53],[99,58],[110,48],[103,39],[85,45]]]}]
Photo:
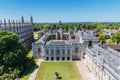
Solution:
[{"label": "pale paved path between the lawn and the long right-hand building", "polygon": [[85,66],[85,64],[82,61],[75,61],[75,63],[76,63],[77,68],[80,72],[82,80],[87,80],[87,73],[89,73],[89,72],[88,72],[88,69]]}]

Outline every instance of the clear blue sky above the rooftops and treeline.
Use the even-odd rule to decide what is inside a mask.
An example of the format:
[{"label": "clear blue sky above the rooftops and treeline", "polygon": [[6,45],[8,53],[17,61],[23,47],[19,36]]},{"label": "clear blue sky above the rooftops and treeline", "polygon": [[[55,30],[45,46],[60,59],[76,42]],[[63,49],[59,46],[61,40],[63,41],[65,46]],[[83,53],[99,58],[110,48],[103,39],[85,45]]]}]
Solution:
[{"label": "clear blue sky above the rooftops and treeline", "polygon": [[0,20],[120,22],[120,0],[0,0]]}]

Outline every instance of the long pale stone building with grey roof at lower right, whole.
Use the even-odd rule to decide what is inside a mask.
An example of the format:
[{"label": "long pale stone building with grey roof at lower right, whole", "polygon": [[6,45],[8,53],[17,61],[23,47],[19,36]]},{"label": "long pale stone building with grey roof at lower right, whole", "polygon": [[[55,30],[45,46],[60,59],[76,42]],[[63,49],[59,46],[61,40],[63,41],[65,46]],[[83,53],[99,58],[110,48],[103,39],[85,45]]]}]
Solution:
[{"label": "long pale stone building with grey roof at lower right, whole", "polygon": [[120,80],[120,53],[94,45],[86,48],[85,64],[96,80]]}]

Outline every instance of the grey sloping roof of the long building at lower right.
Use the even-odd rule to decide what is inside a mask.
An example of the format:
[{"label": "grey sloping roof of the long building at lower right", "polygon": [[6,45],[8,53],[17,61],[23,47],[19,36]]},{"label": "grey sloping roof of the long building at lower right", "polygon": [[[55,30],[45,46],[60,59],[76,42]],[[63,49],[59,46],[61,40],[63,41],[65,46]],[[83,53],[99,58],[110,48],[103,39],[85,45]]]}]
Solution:
[{"label": "grey sloping roof of the long building at lower right", "polygon": [[94,45],[89,49],[92,51],[92,55],[97,56],[99,61],[101,59],[104,60],[107,65],[109,65],[117,73],[120,73],[120,57],[117,56],[116,53],[98,45]]}]

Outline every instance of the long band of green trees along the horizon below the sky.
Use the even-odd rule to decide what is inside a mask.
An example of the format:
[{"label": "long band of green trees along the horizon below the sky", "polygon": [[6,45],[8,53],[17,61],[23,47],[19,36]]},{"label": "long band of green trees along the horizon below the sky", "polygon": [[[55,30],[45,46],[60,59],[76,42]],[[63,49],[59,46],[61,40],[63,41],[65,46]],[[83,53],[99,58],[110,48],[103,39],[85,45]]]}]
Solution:
[{"label": "long band of green trees along the horizon below the sky", "polygon": [[34,24],[34,31],[39,31],[42,29],[56,29],[62,28],[65,32],[69,28],[73,31],[75,29],[97,29],[98,31],[102,29],[119,29],[120,23],[100,23],[100,22],[81,22],[81,23],[64,23],[63,25],[55,23],[46,24]]}]

